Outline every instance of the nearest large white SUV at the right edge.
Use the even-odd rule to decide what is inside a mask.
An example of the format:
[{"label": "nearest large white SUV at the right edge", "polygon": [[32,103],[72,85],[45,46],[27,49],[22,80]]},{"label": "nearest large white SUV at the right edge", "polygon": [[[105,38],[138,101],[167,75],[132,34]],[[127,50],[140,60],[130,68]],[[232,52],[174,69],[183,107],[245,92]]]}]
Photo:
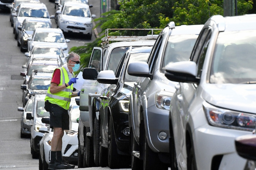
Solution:
[{"label": "nearest large white SUV at the right edge", "polygon": [[235,138],[256,126],[255,51],[255,14],[214,15],[190,61],[166,67],[165,76],[180,82],[170,107],[172,170],[244,169]]}]

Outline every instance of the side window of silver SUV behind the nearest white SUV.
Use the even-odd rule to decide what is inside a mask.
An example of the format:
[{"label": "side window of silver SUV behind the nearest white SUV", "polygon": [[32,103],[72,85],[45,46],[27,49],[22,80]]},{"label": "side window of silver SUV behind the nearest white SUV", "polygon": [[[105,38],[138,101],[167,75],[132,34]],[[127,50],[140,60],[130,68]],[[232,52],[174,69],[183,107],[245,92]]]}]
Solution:
[{"label": "side window of silver SUV behind the nearest white SUV", "polygon": [[161,47],[161,44],[162,44],[162,40],[163,40],[163,35],[160,34],[157,38],[157,41],[155,42],[153,48],[152,48],[152,51],[148,57],[148,66],[149,66],[149,72],[152,74],[153,72],[153,68],[154,68],[154,65],[155,65],[155,62],[157,61],[157,57],[158,57],[158,54],[159,54],[159,50],[160,50],[160,47]]}]

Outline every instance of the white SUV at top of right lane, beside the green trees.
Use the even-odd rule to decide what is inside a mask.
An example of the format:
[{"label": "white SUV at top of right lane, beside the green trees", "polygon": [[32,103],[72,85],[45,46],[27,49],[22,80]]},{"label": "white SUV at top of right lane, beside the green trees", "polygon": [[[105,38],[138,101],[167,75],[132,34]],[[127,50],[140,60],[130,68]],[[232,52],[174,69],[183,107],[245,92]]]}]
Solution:
[{"label": "white SUV at top of right lane, beside the green trees", "polygon": [[88,4],[66,2],[61,10],[56,11],[56,16],[58,17],[57,27],[63,32],[82,33],[91,39],[92,18],[96,15],[91,14]]}]

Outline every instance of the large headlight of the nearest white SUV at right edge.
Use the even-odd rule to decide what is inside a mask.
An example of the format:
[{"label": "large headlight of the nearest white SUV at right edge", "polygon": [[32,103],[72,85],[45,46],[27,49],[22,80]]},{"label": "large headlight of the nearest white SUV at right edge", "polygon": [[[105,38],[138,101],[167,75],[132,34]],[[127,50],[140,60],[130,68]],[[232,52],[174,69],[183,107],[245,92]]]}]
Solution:
[{"label": "large headlight of the nearest white SUV at right edge", "polygon": [[256,115],[212,106],[203,102],[203,109],[210,125],[229,129],[252,131],[256,126]]}]

